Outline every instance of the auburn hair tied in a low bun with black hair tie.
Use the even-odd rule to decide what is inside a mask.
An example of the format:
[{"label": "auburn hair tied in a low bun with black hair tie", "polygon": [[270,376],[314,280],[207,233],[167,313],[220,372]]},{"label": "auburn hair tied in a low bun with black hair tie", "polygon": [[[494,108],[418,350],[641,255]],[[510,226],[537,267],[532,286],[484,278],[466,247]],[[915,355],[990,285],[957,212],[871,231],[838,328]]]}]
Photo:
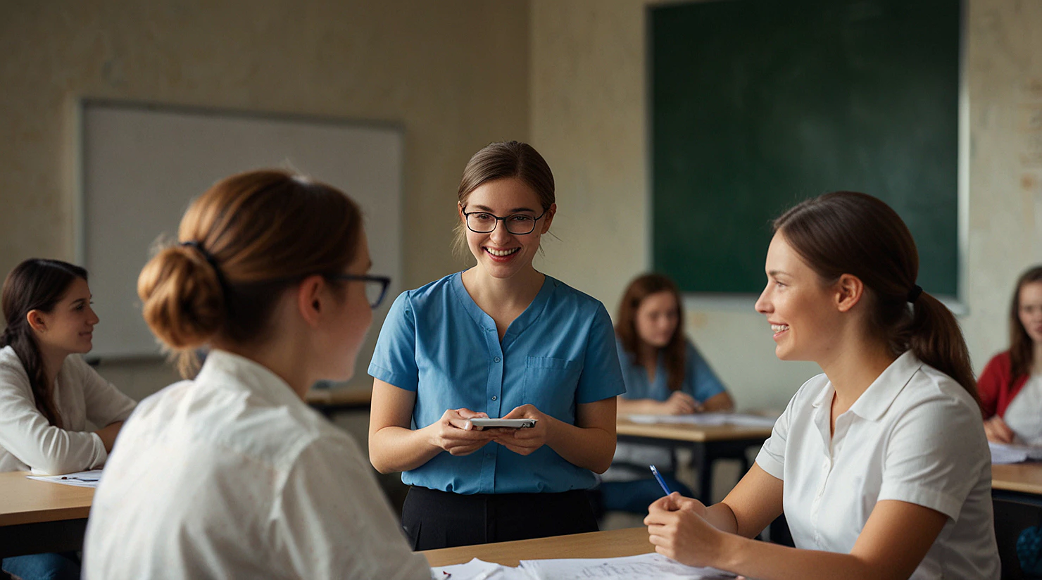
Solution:
[{"label": "auburn hair tied in a low bun with black hair tie", "polygon": [[142,270],[145,322],[188,375],[195,349],[215,337],[264,342],[282,292],[309,275],[343,273],[361,232],[358,206],[330,185],[275,170],[225,178],[184,212],[182,244]]}]

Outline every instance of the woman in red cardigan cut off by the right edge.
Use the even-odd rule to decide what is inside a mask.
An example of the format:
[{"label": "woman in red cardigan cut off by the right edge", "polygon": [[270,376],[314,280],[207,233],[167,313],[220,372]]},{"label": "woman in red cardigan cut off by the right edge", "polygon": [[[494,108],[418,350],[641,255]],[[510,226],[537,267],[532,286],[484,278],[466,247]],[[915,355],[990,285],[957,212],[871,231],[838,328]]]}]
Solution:
[{"label": "woman in red cardigan cut off by the right edge", "polygon": [[988,440],[1042,445],[1042,267],[1020,275],[1010,306],[1010,350],[977,379]]}]

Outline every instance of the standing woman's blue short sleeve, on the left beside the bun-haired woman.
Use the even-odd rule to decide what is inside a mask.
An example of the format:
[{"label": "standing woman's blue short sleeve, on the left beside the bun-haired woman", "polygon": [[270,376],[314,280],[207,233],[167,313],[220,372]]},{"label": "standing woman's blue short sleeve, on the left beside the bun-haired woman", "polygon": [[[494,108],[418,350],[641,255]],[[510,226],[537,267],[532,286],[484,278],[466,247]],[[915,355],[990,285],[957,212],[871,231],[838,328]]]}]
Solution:
[{"label": "standing woman's blue short sleeve, on the left beside the bun-haired woman", "polygon": [[420,371],[416,365],[416,314],[408,293],[398,296],[388,311],[376,339],[369,375],[398,388],[416,390]]}]

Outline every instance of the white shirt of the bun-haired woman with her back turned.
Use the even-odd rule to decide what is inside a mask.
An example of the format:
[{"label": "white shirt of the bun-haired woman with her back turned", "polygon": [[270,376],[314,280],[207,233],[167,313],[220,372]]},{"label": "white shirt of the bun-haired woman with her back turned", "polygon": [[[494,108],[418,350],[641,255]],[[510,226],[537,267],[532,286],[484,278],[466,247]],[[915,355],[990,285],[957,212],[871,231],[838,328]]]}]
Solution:
[{"label": "white shirt of the bun-haired woman with her back turned", "polygon": [[124,425],[83,556],[98,580],[430,578],[357,445],[221,351]]}]

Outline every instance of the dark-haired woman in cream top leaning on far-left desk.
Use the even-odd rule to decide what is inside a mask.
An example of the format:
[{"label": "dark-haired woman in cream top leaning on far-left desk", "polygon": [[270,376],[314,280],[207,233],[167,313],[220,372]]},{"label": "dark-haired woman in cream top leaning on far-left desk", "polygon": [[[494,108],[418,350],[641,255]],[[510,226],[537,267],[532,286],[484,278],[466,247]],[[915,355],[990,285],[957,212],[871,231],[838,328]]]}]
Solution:
[{"label": "dark-haired woman in cream top leaning on far-left desk", "polygon": [[[86,271],[58,260],[23,261],[4,280],[3,314],[0,472],[100,468],[134,401],[75,356],[91,350],[98,324]],[[89,431],[88,421],[101,429]],[[4,558],[2,568],[24,580],[79,578],[75,554]]]}]

